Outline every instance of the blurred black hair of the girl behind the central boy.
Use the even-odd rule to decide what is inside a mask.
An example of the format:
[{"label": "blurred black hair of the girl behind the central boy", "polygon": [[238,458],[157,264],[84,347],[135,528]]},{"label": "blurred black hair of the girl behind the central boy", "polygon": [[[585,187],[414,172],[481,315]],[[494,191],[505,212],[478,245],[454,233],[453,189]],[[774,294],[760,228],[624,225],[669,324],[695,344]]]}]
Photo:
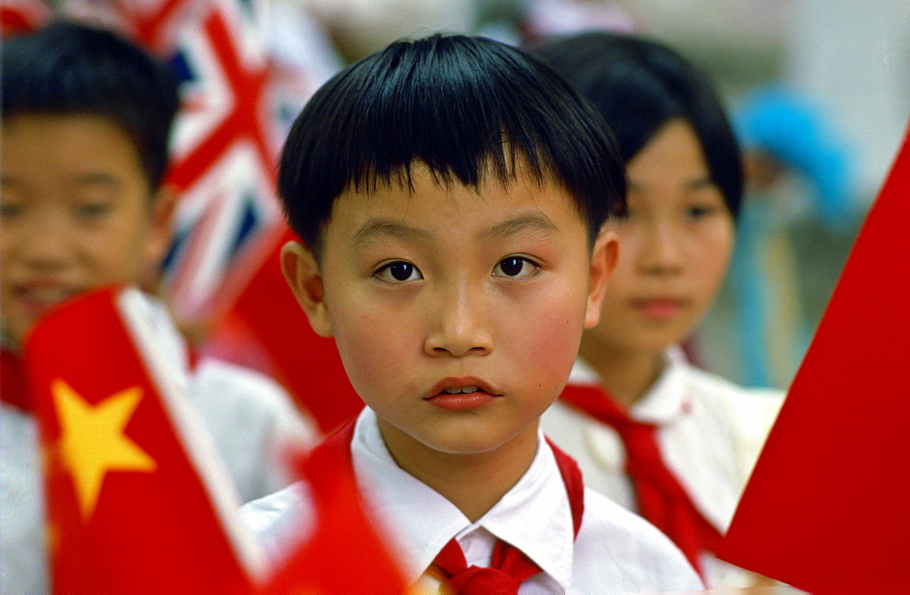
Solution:
[{"label": "blurred black hair of the girl behind the central boy", "polygon": [[628,164],[669,120],[693,127],[715,186],[733,217],[743,197],[742,156],[710,79],[666,45],[589,31],[534,53],[578,87],[607,121]]}]

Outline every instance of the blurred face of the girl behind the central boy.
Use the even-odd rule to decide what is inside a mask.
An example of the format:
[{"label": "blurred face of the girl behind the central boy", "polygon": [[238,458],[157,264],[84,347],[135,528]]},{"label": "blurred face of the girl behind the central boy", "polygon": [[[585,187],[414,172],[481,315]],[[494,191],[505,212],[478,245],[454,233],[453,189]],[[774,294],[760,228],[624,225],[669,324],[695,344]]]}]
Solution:
[{"label": "blurred face of the girl behind the central boy", "polygon": [[733,248],[733,216],[686,121],[662,126],[627,175],[629,217],[608,224],[619,262],[583,354],[656,354],[681,341],[711,305]]}]

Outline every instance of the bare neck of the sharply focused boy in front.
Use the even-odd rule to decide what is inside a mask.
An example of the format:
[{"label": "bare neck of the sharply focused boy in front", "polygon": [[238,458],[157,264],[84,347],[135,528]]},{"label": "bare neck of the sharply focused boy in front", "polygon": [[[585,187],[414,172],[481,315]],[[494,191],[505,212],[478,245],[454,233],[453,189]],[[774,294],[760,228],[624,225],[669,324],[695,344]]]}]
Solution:
[{"label": "bare neck of the sharply focused boy in front", "polygon": [[518,483],[537,454],[536,424],[496,449],[470,455],[430,449],[381,419],[379,431],[401,469],[438,491],[471,522]]}]

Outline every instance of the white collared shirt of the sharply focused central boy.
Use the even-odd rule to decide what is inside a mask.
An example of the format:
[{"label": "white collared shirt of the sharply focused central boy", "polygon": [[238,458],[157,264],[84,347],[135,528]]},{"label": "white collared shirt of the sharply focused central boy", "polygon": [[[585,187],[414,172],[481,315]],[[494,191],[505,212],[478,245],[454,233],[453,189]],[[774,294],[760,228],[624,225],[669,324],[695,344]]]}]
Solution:
[{"label": "white collared shirt of the sharply focused central boy", "polygon": [[[542,572],[521,583],[521,595],[537,593],[635,593],[700,590],[701,580],[682,553],[652,525],[608,499],[585,490],[585,511],[572,539],[569,499],[552,450],[540,435],[531,468],[477,522],[434,489],[400,469],[366,408],[354,429],[351,453],[360,489],[382,527],[399,544],[406,577],[429,588],[424,575],[455,537],[468,564],[489,566],[497,538],[534,560]],[[300,484],[244,507],[250,526],[275,556],[288,552],[288,526],[306,516]],[[301,501],[303,500],[303,501]],[[277,538],[281,534],[284,538]]]}]

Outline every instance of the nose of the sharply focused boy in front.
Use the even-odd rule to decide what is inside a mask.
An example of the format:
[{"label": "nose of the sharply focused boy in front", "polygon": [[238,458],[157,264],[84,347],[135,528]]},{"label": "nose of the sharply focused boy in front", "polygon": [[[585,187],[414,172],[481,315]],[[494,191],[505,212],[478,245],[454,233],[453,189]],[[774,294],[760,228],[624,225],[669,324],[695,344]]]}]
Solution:
[{"label": "nose of the sharply focused boy in front", "polygon": [[470,295],[466,288],[444,293],[430,306],[434,322],[425,342],[426,352],[455,358],[490,353],[492,336],[484,322],[481,298],[476,293]]}]

